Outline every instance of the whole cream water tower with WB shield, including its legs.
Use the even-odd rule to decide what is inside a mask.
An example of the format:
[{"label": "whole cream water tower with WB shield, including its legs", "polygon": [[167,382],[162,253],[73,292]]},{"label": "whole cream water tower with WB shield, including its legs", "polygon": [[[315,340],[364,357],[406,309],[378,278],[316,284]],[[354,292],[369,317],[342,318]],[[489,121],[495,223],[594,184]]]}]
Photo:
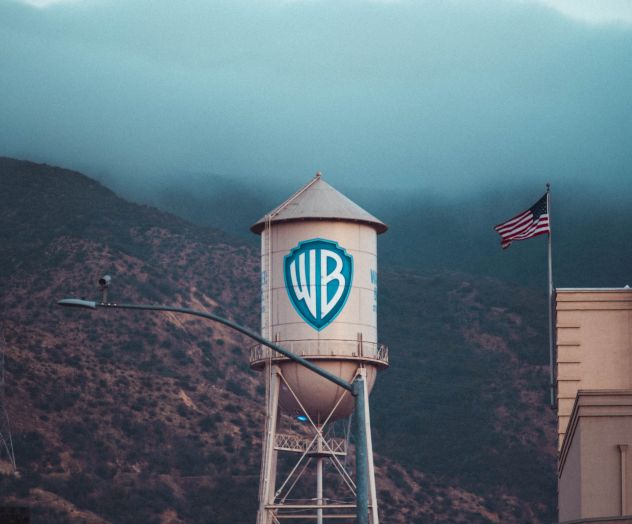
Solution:
[{"label": "whole cream water tower with WB shield, including its legs", "polygon": [[[370,391],[377,372],[388,367],[388,349],[377,340],[377,235],[386,229],[320,173],[255,223],[251,230],[261,235],[262,335],[349,382],[363,375]],[[250,365],[265,373],[266,382],[257,523],[354,521],[348,439],[332,432],[336,421],[352,415],[353,398],[264,346],[252,349]],[[370,522],[377,524],[367,429]],[[277,478],[280,452],[294,454],[296,464]],[[325,467],[336,472],[335,485],[323,485]],[[301,479],[314,477],[314,496],[293,495]]]}]

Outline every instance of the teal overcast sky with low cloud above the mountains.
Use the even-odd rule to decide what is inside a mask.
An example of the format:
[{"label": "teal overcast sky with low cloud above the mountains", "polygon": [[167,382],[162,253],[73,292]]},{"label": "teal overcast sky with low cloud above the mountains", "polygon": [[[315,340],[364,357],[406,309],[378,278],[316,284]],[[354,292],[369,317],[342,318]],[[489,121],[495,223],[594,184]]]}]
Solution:
[{"label": "teal overcast sky with low cloud above the mountains", "polygon": [[462,194],[632,189],[630,0],[0,0],[0,155]]}]

